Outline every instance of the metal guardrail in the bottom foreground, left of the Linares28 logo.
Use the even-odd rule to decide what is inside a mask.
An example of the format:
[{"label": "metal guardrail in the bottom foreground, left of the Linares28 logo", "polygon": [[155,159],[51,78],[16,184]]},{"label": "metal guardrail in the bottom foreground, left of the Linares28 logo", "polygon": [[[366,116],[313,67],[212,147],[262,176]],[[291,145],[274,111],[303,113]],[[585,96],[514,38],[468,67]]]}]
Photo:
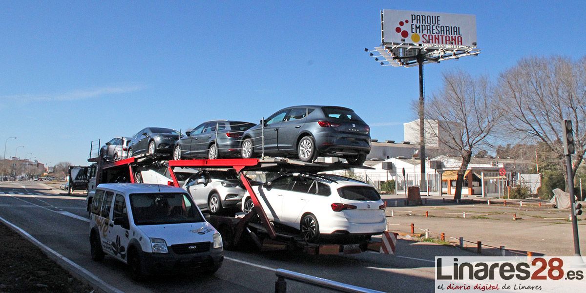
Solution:
[{"label": "metal guardrail in the bottom foreground, left of the Linares28 logo", "polygon": [[281,268],[275,271],[275,275],[277,275],[277,281],[275,281],[275,293],[287,293],[287,282],[285,279],[301,282],[304,284],[309,284],[317,287],[322,287],[326,289],[336,290],[339,292],[349,292],[349,293],[383,293],[382,291],[376,291],[373,289],[362,288],[354,285],[348,285],[324,278],[314,277],[311,275],[301,274],[299,272],[293,272],[288,270],[283,270]]}]

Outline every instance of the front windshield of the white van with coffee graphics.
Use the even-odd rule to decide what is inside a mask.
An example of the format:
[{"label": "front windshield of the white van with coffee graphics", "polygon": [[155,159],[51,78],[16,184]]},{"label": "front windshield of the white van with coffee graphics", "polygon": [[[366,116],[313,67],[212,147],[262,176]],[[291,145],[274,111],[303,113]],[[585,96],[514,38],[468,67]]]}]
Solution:
[{"label": "front windshield of the white van with coffee graphics", "polygon": [[136,225],[204,222],[186,193],[135,193],[130,206]]}]

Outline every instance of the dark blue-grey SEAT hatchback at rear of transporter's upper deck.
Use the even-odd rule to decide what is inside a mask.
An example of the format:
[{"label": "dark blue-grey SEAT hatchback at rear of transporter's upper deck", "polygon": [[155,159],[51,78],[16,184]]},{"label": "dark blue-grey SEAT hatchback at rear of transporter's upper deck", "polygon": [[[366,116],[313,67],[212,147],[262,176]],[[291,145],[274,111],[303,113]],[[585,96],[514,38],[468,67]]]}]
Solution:
[{"label": "dark blue-grey SEAT hatchback at rear of transporter's upper deck", "polygon": [[[263,131],[264,123],[264,131]],[[242,137],[242,158],[339,156],[362,165],[370,152],[370,127],[349,108],[319,105],[288,107],[270,115]]]}]

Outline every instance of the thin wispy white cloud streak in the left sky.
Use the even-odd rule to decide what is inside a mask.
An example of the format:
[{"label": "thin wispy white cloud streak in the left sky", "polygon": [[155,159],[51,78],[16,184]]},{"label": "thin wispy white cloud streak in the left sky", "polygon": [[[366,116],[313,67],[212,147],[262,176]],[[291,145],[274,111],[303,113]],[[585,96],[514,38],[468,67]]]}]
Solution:
[{"label": "thin wispy white cloud streak in the left sky", "polygon": [[67,93],[56,94],[16,94],[12,96],[0,96],[2,100],[19,100],[19,101],[71,101],[82,100],[85,98],[94,98],[107,96],[111,94],[124,94],[139,91],[144,86],[118,86],[118,87],[97,87],[84,90],[73,90]]}]

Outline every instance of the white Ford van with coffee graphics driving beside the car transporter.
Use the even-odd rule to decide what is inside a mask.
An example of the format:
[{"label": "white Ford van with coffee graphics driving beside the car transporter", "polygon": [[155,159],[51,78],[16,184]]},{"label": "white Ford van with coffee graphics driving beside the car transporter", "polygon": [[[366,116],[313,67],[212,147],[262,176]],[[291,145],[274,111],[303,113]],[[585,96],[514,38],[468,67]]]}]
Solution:
[{"label": "white Ford van with coffee graphics driving beside the car transporter", "polygon": [[213,274],[224,260],[220,233],[185,190],[166,185],[98,185],[90,246],[93,260],[111,255],[127,263],[135,279],[163,272]]}]

